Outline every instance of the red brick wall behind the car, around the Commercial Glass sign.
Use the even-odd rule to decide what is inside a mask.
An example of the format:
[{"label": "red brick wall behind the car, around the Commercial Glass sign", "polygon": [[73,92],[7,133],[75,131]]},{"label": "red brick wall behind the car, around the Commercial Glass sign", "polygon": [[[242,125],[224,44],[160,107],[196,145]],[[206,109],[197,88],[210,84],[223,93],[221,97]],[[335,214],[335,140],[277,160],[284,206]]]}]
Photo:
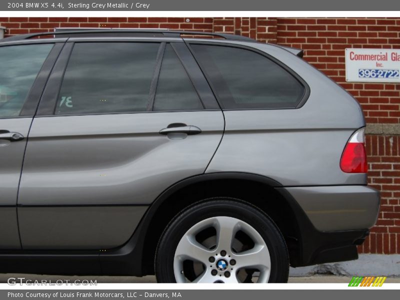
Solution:
[{"label": "red brick wall behind the car, around the Commercial Glass sign", "polygon": [[304,49],[304,59],[361,103],[367,135],[368,182],[381,191],[379,219],[360,252],[400,253],[400,83],[348,83],[344,48],[400,48],[400,18],[267,17],[0,17],[6,36],[54,27],[171,28],[242,34]]}]

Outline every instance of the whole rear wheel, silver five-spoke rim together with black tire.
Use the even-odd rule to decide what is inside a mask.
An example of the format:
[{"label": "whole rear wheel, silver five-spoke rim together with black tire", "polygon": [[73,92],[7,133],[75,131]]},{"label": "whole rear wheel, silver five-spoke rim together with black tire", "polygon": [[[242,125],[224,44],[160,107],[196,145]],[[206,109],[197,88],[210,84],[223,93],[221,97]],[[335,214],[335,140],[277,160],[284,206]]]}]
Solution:
[{"label": "whole rear wheel, silver five-spoke rim together with black tire", "polygon": [[156,251],[158,282],[286,282],[288,255],[271,219],[239,200],[213,199],[181,211]]}]

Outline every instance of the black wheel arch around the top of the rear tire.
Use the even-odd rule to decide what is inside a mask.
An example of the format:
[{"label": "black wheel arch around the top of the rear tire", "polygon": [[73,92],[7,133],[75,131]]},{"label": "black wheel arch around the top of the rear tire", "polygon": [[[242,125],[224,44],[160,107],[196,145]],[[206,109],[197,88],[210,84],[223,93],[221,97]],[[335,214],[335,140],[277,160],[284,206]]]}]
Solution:
[{"label": "black wheel arch around the top of the rear tire", "polygon": [[277,187],[281,187],[281,184],[276,180],[244,172],[206,173],[168,187],[150,205],[138,228],[142,236],[142,275],[154,273],[156,245],[173,217],[195,202],[216,196],[239,198],[271,217],[283,234],[290,262],[295,264],[300,258],[297,217],[288,199],[275,189]]}]

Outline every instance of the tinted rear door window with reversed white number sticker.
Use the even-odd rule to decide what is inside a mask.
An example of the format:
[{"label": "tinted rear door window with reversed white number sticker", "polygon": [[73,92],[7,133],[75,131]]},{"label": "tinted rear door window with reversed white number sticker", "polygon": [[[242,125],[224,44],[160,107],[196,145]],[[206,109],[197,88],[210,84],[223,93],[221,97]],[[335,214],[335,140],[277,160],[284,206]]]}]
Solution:
[{"label": "tinted rear door window with reversed white number sticker", "polygon": [[55,113],[146,110],[158,43],[76,43]]}]

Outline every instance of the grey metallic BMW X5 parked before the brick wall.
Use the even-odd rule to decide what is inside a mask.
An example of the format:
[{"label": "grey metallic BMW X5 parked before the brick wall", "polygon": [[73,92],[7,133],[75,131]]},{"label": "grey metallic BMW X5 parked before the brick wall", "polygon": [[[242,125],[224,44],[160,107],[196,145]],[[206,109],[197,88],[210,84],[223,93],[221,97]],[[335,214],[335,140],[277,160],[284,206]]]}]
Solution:
[{"label": "grey metallic BMW X5 parked before the brick wall", "polygon": [[286,282],[357,258],[379,208],[365,122],[301,50],[44,34],[0,42],[0,272]]}]

